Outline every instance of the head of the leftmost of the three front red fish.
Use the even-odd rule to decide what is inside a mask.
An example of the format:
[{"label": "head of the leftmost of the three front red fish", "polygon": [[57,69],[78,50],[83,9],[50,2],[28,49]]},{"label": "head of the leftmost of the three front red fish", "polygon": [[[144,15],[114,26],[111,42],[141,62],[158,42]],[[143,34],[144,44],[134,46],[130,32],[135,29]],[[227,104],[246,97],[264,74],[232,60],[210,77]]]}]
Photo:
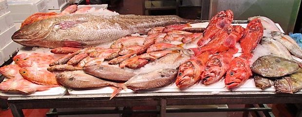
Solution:
[{"label": "head of the leftmost of the three front red fish", "polygon": [[200,71],[197,69],[198,66],[194,64],[194,61],[184,62],[178,70],[175,84],[178,88],[184,89],[193,85],[200,78]]}]

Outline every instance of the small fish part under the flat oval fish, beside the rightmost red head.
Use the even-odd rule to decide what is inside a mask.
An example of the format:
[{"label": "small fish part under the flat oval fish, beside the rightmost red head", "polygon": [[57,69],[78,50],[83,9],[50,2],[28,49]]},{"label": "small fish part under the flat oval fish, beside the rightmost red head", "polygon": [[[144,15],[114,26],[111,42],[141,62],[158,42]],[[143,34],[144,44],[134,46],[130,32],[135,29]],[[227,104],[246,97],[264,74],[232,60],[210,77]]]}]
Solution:
[{"label": "small fish part under the flat oval fish, beside the rightmost red head", "polygon": [[259,89],[266,89],[274,85],[274,81],[268,78],[264,78],[259,75],[254,77],[255,86]]}]

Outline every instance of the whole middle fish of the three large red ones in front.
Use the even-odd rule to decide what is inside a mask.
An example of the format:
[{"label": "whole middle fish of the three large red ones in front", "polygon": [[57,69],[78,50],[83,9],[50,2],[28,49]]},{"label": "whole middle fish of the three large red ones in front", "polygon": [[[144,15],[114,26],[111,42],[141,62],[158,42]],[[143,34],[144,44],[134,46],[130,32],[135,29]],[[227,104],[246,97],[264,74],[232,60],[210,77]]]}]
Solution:
[{"label": "whole middle fish of the three large red ones in front", "polygon": [[237,48],[231,48],[227,52],[211,56],[201,76],[201,82],[208,85],[219,81],[226,74],[232,61],[232,55],[236,54],[237,51]]}]

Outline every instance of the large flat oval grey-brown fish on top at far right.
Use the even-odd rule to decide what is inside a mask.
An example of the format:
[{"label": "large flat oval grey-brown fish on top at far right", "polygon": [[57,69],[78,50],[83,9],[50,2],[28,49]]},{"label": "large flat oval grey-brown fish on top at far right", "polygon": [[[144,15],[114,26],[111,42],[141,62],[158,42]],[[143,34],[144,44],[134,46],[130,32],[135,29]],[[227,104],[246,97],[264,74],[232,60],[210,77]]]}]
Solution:
[{"label": "large flat oval grey-brown fish on top at far right", "polygon": [[264,77],[283,77],[293,74],[299,69],[299,65],[292,60],[276,57],[262,56],[251,66],[251,70]]}]

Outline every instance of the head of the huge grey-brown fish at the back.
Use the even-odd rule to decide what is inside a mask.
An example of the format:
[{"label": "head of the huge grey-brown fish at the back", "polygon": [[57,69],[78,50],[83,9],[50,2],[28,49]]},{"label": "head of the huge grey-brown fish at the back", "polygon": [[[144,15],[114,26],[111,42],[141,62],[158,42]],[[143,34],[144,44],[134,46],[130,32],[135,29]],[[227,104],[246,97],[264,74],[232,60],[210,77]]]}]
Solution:
[{"label": "head of the huge grey-brown fish at the back", "polygon": [[36,46],[37,41],[45,39],[50,34],[56,22],[50,19],[34,22],[16,31],[12,39],[21,45]]}]

